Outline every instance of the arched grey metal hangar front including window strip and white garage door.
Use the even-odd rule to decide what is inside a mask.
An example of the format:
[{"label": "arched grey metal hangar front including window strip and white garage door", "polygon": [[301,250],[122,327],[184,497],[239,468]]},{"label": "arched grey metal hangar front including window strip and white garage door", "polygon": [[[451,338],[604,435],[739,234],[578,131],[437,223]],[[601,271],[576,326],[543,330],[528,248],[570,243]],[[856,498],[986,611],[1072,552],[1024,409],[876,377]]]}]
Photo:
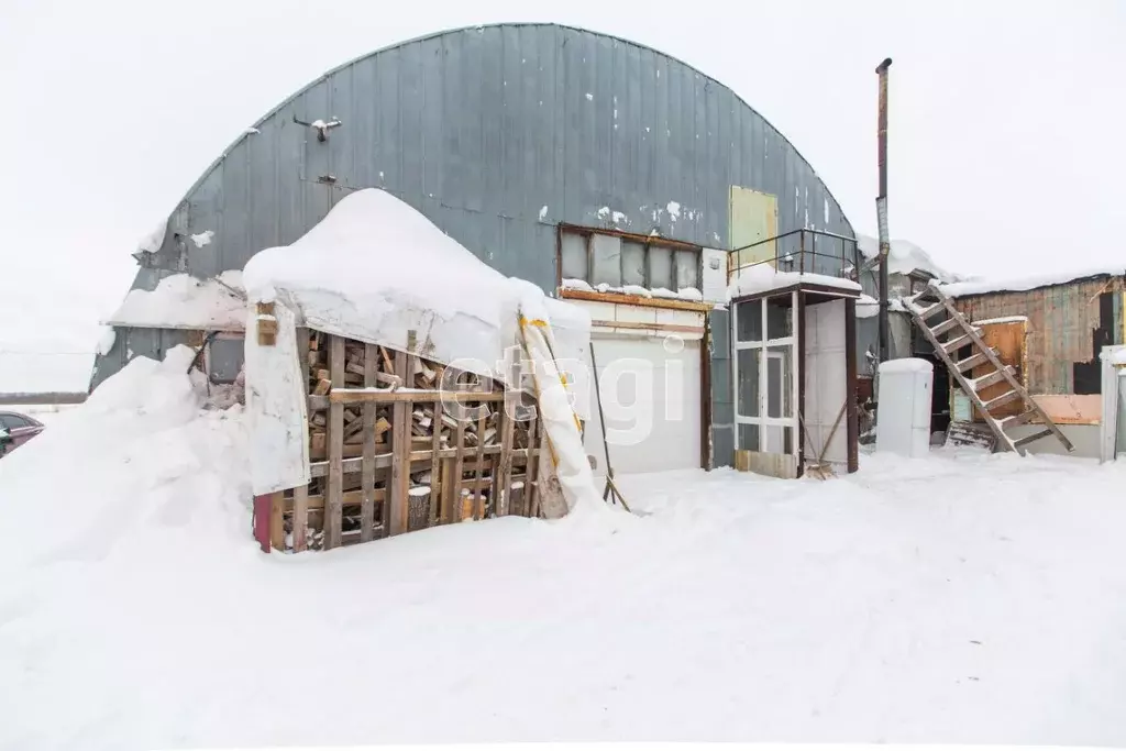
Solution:
[{"label": "arched grey metal hangar front including window strip and white garage door", "polygon": [[[839,276],[848,253],[857,266],[829,189],[731,89],[620,38],[499,25],[394,45],[297,91],[191,186],[136,253],[133,287],[242,269],[361,188],[402,198],[503,274],[581,301],[600,369],[632,358],[682,377],[635,395],[634,418],[649,410],[654,424],[623,449],[620,471],[732,463],[729,251],[761,243],[789,257],[763,241],[808,229],[843,242],[811,254],[807,271]],[[118,323],[95,385],[207,331],[206,315]],[[238,373],[238,328],[211,341],[216,378]],[[683,346],[667,346],[671,334]]]}]

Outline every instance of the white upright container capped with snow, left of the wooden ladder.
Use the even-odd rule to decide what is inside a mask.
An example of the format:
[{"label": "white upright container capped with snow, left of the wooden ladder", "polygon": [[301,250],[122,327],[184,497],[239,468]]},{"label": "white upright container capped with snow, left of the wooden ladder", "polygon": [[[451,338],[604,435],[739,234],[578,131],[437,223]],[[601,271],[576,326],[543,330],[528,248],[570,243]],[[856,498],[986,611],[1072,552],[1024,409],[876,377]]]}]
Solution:
[{"label": "white upright container capped with snow, left of the wooden ladder", "polygon": [[931,390],[935,366],[908,357],[879,365],[876,395],[876,450],[903,456],[930,452]]}]

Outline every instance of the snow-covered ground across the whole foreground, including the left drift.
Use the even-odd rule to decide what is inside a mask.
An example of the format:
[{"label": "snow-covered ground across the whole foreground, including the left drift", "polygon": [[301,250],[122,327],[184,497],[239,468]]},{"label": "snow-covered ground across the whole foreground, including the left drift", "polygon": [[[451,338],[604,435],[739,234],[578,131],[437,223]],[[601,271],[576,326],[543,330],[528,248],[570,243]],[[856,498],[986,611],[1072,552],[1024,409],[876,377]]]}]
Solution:
[{"label": "snow-covered ground across the whole foreground, including the left drift", "polygon": [[1126,744],[1126,468],[640,475],[610,522],[263,555],[182,355],[0,461],[0,748]]}]

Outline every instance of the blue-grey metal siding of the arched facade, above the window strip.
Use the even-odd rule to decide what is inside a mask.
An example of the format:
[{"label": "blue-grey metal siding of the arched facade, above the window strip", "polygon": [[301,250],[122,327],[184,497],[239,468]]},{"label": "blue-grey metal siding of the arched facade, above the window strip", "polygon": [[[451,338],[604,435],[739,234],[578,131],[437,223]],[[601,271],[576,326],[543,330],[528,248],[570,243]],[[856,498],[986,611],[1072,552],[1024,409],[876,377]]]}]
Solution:
[{"label": "blue-grey metal siding of the arched facade, above the window strip", "polygon": [[[342,125],[320,143],[295,117]],[[406,42],[327,73],[254,127],[173,211],[160,271],[142,269],[135,287],[242,268],[368,187],[547,290],[557,223],[727,248],[732,185],[778,196],[779,233],[852,235],[810,164],[734,92],[660,52],[577,28]],[[196,248],[188,236],[207,230],[211,244]],[[107,359],[99,377],[115,369]]]}]

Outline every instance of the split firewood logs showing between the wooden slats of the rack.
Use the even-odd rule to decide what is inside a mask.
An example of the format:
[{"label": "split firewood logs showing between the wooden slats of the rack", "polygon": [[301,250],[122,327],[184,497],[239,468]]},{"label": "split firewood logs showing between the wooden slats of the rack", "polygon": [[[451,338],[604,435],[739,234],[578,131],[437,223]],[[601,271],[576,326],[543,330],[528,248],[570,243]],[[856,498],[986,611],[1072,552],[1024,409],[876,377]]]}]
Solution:
[{"label": "split firewood logs showing between the wooden slats of the rack", "polygon": [[[312,480],[304,491],[307,501],[295,500],[295,491],[284,497],[285,539],[282,549],[319,549],[325,547],[325,499],[330,497],[329,470],[332,431],[330,430],[330,395],[333,392],[331,368],[331,334],[298,330],[298,356],[307,376],[309,399],[309,456]],[[535,448],[542,441],[542,429],[534,410],[527,410],[533,400],[528,395],[510,395],[508,411],[512,417],[511,442],[502,446],[506,404],[502,400],[473,404],[467,415],[457,412],[458,404],[446,405],[427,401],[426,394],[439,390],[474,391],[503,394],[500,383],[490,385],[472,373],[457,372],[418,355],[409,355],[385,347],[367,345],[352,339],[343,341],[343,375],[337,390],[381,390],[414,394],[418,400],[408,402],[409,430],[404,438],[409,449],[394,450],[395,409],[399,403],[351,403],[343,406],[342,420],[342,520],[340,544],[374,539],[391,534],[388,509],[395,463],[397,473],[409,476],[408,513],[405,529],[414,531],[426,527],[480,519],[498,512],[533,516],[538,512],[535,492]],[[339,345],[338,345],[339,347]],[[339,350],[338,350],[339,351]],[[338,359],[338,363],[340,360]],[[513,409],[513,401],[524,406]],[[340,405],[338,405],[339,408]],[[366,412],[374,412],[367,414]],[[452,414],[450,412],[455,412]],[[367,419],[365,419],[367,418]],[[462,419],[459,419],[462,418]],[[374,430],[365,430],[370,422]],[[374,433],[374,454],[365,456],[365,441]],[[528,450],[531,449],[531,450]],[[507,473],[501,473],[502,458],[508,456]],[[425,458],[423,458],[425,457]],[[349,461],[350,459],[350,461]],[[437,462],[436,462],[437,459]],[[437,464],[437,466],[436,466]],[[365,472],[373,473],[370,481],[375,510],[364,513]],[[529,473],[530,468],[530,473]],[[530,476],[529,476],[530,474]],[[499,483],[510,476],[510,491],[504,509],[498,509]],[[306,527],[297,518],[297,509],[307,508]],[[304,534],[300,534],[301,531]],[[279,530],[280,531],[280,530]],[[271,535],[272,537],[272,535]]]}]

